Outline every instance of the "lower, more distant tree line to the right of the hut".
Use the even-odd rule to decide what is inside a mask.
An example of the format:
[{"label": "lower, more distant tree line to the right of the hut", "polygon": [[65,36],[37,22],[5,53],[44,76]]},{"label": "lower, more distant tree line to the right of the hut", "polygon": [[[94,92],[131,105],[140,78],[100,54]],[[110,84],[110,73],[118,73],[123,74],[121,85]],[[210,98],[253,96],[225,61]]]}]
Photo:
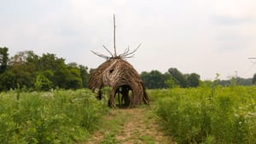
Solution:
[{"label": "lower, more distant tree line to the right of the hut", "polygon": [[198,86],[209,86],[221,85],[221,86],[232,86],[232,85],[253,85],[256,84],[256,73],[253,78],[240,78],[233,77],[228,80],[220,80],[216,77],[213,81],[200,79],[200,75],[197,73],[183,74],[179,72],[177,68],[169,68],[167,72],[161,73],[157,70],[151,72],[142,72],[141,77],[143,83],[148,89],[170,89],[170,88],[193,88]]}]

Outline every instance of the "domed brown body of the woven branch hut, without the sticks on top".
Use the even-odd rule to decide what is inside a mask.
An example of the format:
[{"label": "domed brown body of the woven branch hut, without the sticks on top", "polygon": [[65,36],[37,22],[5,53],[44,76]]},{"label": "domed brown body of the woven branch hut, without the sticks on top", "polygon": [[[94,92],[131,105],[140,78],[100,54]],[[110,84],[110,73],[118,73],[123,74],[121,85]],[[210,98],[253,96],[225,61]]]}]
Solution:
[{"label": "domed brown body of the woven branch hut, without the sticks on top", "polygon": [[115,107],[116,95],[121,95],[122,100],[124,100],[124,103],[119,101],[119,106],[131,107],[141,105],[143,102],[149,104],[142,78],[133,66],[120,56],[112,57],[103,62],[90,75],[89,88],[93,91],[98,89],[99,99],[102,99],[101,89],[104,86],[112,88],[108,101],[109,107]]}]

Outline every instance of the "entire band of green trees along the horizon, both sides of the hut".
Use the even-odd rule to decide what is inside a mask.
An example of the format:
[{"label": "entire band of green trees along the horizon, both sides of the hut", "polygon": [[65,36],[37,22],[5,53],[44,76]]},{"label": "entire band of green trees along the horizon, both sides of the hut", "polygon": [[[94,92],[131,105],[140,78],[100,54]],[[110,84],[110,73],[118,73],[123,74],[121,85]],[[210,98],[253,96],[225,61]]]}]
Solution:
[{"label": "entire band of green trees along the horizon, both sides of the hut", "polygon": [[[33,51],[22,51],[9,57],[9,49],[0,48],[0,91],[9,89],[80,89],[87,88],[90,72],[87,66],[75,62],[65,63],[65,59],[54,54],[36,55]],[[147,89],[189,88],[202,82],[197,73],[183,74],[177,68],[169,68],[162,73],[157,70],[142,72],[141,78]],[[232,78],[219,80],[220,85],[251,85],[256,82],[256,73],[253,78]]]}]

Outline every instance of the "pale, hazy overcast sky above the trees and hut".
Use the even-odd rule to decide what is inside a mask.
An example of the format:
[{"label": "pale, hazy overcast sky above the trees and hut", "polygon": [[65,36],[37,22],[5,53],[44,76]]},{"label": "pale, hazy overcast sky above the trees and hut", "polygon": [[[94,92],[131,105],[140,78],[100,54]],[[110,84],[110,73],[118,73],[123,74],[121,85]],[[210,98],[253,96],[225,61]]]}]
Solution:
[{"label": "pale, hazy overcast sky above the trees and hut", "polygon": [[0,47],[9,56],[32,50],[96,68],[105,60],[90,50],[122,54],[137,72],[198,73],[214,79],[256,73],[255,0],[0,0]]}]

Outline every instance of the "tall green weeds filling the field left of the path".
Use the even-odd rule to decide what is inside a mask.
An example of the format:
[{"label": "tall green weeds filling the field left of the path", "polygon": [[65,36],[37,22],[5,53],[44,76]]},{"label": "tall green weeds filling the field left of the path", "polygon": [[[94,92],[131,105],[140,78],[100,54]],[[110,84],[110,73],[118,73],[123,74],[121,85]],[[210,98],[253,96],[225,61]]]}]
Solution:
[{"label": "tall green weeds filling the field left of the path", "polygon": [[0,143],[76,143],[105,112],[87,89],[0,93]]}]

